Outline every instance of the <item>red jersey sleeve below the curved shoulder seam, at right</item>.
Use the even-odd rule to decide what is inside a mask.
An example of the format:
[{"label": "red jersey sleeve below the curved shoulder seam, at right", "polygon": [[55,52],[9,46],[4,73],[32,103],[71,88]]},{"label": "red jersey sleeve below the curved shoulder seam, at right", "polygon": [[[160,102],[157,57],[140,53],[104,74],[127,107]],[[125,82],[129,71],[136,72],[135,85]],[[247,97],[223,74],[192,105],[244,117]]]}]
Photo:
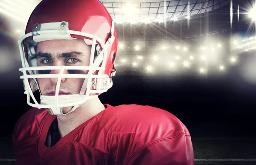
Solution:
[{"label": "red jersey sleeve below the curved shoulder seam, at right", "polygon": [[194,165],[191,137],[183,133],[151,142],[131,155],[125,165]]}]

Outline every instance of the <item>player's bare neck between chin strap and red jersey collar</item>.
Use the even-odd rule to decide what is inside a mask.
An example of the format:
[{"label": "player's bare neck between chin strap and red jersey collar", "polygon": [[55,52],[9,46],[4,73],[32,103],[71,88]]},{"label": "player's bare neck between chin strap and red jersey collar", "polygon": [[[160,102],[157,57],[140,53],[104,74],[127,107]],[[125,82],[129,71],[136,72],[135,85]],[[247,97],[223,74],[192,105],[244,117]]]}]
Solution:
[{"label": "player's bare neck between chin strap and red jersey collar", "polygon": [[72,113],[69,113],[65,116],[57,115],[58,130],[61,138],[70,133],[82,123],[100,113],[102,110],[105,110],[105,107],[99,98],[96,97],[87,100]]}]

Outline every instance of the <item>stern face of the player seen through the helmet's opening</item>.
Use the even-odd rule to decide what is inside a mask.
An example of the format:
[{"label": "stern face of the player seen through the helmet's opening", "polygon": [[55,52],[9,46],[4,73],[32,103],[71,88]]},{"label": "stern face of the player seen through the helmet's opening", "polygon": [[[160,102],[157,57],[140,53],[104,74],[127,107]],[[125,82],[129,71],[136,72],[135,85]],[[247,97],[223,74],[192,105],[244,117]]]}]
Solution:
[{"label": "stern face of the player seen through the helmet's opening", "polygon": [[[37,66],[89,66],[91,46],[79,38],[50,40],[37,45]],[[38,70],[37,74],[58,74],[60,70]],[[64,70],[63,74],[87,74],[88,70]],[[38,78],[42,95],[55,95],[58,78]],[[79,94],[84,78],[61,78],[59,95]]]}]

